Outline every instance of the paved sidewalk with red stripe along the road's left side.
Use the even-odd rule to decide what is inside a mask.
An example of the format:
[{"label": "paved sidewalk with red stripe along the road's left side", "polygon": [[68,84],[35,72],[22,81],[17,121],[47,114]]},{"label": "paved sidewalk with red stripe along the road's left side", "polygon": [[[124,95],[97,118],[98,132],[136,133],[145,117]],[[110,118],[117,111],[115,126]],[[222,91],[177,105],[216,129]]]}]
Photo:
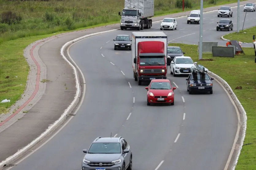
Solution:
[{"label": "paved sidewalk with red stripe along the road's left side", "polygon": [[[246,2],[255,0],[243,1],[240,5]],[[236,5],[237,3],[233,3],[228,6]],[[219,7],[205,8],[204,12]],[[154,17],[152,20],[177,18],[189,13]],[[60,55],[61,47],[86,34],[117,28],[120,28],[119,24],[59,34],[32,43],[25,49],[24,56],[30,66],[27,88],[23,98],[11,107],[10,113],[0,115],[0,161],[15,154],[43,133],[74,100],[75,76],[71,66]]]}]

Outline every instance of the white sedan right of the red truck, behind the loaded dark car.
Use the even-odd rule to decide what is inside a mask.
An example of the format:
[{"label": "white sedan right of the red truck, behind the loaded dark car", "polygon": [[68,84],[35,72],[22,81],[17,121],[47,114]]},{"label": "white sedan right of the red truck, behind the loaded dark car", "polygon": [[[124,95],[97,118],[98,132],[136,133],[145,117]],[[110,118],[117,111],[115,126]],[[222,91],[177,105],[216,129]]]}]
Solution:
[{"label": "white sedan right of the red truck, behind the loaded dark car", "polygon": [[180,74],[190,74],[190,69],[192,66],[195,66],[197,62],[193,62],[190,57],[187,56],[176,56],[171,61],[170,72],[175,77]]}]

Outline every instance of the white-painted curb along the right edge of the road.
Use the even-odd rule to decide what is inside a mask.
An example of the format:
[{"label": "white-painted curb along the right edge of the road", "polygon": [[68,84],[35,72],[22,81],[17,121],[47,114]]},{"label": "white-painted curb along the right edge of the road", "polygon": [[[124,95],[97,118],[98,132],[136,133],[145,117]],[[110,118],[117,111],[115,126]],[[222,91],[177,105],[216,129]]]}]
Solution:
[{"label": "white-painted curb along the right edge of the road", "polygon": [[[246,121],[247,121],[247,116],[246,116],[246,111],[244,110],[242,104],[240,103],[239,99],[237,98],[237,96],[235,95],[235,93],[233,92],[233,90],[231,89],[231,87],[228,85],[228,83],[223,79],[221,78],[220,76],[218,76],[217,74],[214,74],[212,73],[211,71],[207,71],[212,77],[214,77],[215,79],[217,79],[218,81],[220,81],[225,89],[227,90],[227,92],[229,93],[229,95],[231,96],[231,98],[233,99],[233,101],[235,102],[235,105],[237,107],[237,109],[239,110],[239,116],[241,117],[242,116],[242,120],[239,124],[238,122],[238,126],[240,126],[239,128],[239,136],[238,138],[234,141],[235,143],[235,146],[234,148],[232,148],[231,150],[231,153],[234,151],[236,151],[235,153],[235,161],[232,165],[229,165],[229,162],[227,162],[227,165],[228,167],[231,167],[232,170],[235,170],[235,166],[237,164],[237,161],[238,161],[238,158],[239,158],[239,155],[240,155],[240,152],[241,152],[241,149],[242,149],[242,146],[243,146],[243,141],[244,141],[244,138],[245,138],[245,133],[246,133]],[[240,119],[240,118],[239,118]],[[231,155],[231,157],[233,156],[233,154]],[[230,158],[231,158],[230,157]],[[231,161],[231,160],[230,160]],[[225,168],[228,168],[228,167],[225,167]]]}]

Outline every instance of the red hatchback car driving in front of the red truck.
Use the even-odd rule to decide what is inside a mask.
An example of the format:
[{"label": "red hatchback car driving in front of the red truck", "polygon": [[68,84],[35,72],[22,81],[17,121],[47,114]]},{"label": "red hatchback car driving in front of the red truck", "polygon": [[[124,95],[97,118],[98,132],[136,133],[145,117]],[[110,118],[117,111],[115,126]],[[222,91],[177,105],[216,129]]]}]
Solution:
[{"label": "red hatchback car driving in front of the red truck", "polygon": [[169,103],[174,105],[174,91],[168,79],[151,80],[150,84],[145,87],[147,90],[147,105],[151,103]]}]

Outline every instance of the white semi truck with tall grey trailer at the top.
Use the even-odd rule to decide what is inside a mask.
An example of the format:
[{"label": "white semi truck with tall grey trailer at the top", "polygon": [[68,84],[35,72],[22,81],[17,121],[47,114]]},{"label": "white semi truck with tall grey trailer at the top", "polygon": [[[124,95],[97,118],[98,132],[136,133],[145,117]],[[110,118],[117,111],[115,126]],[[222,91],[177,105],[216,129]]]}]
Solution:
[{"label": "white semi truck with tall grey trailer at the top", "polygon": [[151,28],[152,20],[148,19],[154,16],[154,0],[124,0],[124,9],[121,16],[121,30],[135,28],[143,30]]}]

